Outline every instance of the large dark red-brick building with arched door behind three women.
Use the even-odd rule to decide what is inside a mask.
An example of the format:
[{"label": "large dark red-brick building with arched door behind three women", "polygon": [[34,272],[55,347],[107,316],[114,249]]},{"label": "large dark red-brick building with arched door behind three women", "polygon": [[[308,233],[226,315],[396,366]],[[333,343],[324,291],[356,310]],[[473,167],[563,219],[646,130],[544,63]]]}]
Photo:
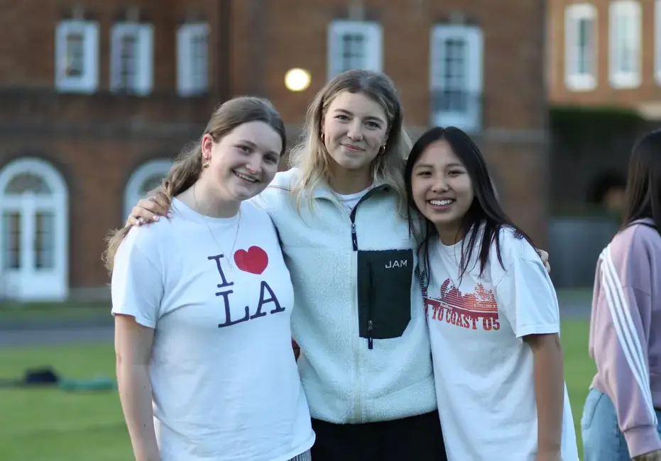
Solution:
[{"label": "large dark red-brick building with arched door behind three women", "polygon": [[[315,91],[351,67],[393,77],[413,135],[433,124],[473,133],[506,209],[545,244],[545,2],[5,3],[0,297],[101,292],[104,235],[214,105],[267,96],[295,138]],[[293,67],[309,72],[305,91],[285,87]]]}]

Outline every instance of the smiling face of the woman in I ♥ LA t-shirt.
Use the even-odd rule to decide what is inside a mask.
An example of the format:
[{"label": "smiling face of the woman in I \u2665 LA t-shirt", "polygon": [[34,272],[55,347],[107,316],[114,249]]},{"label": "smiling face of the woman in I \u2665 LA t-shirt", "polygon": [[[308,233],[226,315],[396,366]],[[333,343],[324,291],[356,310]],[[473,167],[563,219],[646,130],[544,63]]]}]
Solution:
[{"label": "smiling face of the woman in I \u2665 LA t-shirt", "polygon": [[253,121],[237,126],[223,138],[202,138],[202,162],[209,167],[201,179],[223,201],[251,199],[266,189],[278,172],[283,140],[268,123]]}]

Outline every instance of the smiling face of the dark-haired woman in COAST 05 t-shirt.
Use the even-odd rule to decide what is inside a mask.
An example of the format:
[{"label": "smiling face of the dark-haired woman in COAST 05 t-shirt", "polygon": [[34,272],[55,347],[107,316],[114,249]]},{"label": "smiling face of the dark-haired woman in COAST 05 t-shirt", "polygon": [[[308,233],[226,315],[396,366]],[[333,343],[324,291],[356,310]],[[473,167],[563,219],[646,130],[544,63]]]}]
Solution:
[{"label": "smiling face of the dark-haired woman in COAST 05 t-shirt", "polygon": [[411,189],[417,209],[434,223],[443,243],[456,243],[474,191],[466,167],[446,140],[431,143],[422,152],[413,165]]}]

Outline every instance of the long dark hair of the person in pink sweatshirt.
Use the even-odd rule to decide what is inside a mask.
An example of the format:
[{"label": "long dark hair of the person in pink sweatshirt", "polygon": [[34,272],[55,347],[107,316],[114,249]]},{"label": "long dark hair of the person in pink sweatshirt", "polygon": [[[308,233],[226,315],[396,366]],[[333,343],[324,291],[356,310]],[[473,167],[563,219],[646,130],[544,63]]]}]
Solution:
[{"label": "long dark hair of the person in pink sweatshirt", "polygon": [[651,218],[661,233],[661,129],[643,135],[629,159],[623,228]]}]

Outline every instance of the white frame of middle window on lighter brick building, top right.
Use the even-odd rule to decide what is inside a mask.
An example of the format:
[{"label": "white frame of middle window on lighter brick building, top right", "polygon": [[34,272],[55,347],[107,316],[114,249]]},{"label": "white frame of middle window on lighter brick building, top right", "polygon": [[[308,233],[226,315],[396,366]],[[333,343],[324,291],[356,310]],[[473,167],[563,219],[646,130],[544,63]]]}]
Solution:
[{"label": "white frame of middle window on lighter brick building, top right", "polygon": [[[609,9],[608,25],[608,44],[610,48],[609,74],[611,87],[616,89],[636,88],[640,86],[640,74],[642,67],[642,11],[640,2],[637,0],[617,0],[612,1]],[[633,70],[623,72],[621,70],[620,43],[622,38],[619,36],[617,23],[621,17],[628,17],[633,23],[634,33],[631,38],[631,47],[633,54]]]}]

